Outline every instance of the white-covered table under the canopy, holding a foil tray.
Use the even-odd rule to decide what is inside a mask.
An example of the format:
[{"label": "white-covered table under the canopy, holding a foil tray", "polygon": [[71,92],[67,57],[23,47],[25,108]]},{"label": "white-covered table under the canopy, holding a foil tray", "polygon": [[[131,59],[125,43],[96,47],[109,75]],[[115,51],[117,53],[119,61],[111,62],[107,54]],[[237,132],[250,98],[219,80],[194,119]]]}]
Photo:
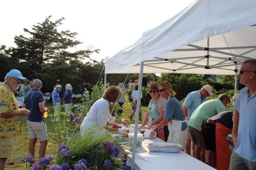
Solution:
[{"label": "white-covered table under the canopy, holding a foil tray", "polygon": [[[198,170],[198,169],[214,169],[200,160],[180,151],[179,153],[163,153],[163,152],[149,152],[147,148],[148,143],[163,143],[159,138],[143,139],[142,147],[137,148],[135,158],[135,169],[147,170]],[[127,165],[131,165],[131,155],[127,160]]]}]

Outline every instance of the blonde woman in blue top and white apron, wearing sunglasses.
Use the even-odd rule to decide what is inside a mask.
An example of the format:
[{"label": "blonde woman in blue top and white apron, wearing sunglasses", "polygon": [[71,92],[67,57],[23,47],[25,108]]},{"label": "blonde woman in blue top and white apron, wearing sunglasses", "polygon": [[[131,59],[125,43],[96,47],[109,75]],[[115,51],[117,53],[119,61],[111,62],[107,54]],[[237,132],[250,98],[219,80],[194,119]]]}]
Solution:
[{"label": "blonde woman in blue top and white apron, wearing sunglasses", "polygon": [[154,137],[161,127],[168,125],[168,142],[180,143],[182,146],[185,146],[188,133],[186,129],[187,123],[180,102],[174,97],[176,93],[169,82],[161,82],[158,91],[161,97],[167,99],[166,110],[164,112],[164,119],[157,127],[151,130],[150,138]]}]

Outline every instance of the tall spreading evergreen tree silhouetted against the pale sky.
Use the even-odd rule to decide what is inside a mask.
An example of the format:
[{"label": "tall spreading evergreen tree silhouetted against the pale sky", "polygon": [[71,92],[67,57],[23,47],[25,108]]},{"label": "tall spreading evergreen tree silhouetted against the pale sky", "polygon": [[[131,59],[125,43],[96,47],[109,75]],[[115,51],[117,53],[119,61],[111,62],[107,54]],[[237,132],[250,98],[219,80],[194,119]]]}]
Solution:
[{"label": "tall spreading evergreen tree silhouetted against the pale sky", "polygon": [[11,56],[19,61],[22,67],[30,68],[29,76],[31,78],[36,77],[36,73],[43,74],[43,67],[47,63],[54,63],[56,60],[72,63],[74,60],[90,59],[90,54],[99,52],[98,49],[70,52],[70,48],[76,47],[81,42],[76,40],[76,32],[59,31],[58,28],[63,20],[62,17],[52,21],[49,16],[44,22],[33,25],[31,30],[24,28],[24,32],[28,36],[15,36],[17,47],[12,48]]}]

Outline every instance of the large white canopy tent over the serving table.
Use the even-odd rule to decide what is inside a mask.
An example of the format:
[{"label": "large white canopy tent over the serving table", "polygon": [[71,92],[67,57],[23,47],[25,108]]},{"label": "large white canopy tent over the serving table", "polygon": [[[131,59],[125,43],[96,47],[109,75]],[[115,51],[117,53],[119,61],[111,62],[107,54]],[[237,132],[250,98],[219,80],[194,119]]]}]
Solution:
[{"label": "large white canopy tent over the serving table", "polygon": [[255,0],[195,1],[106,58],[105,73],[140,72],[139,91],[143,73],[236,75],[244,60],[256,59],[255,9]]}]

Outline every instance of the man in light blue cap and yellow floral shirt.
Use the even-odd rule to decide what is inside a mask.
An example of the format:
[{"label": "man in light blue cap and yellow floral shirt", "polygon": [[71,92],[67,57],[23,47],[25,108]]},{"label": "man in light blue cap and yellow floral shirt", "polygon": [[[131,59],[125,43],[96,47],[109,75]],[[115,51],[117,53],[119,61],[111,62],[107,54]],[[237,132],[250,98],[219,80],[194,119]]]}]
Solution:
[{"label": "man in light blue cap and yellow floral shirt", "polygon": [[20,82],[26,81],[19,70],[6,73],[4,82],[0,84],[0,169],[4,169],[6,159],[12,157],[13,139],[21,132],[20,115],[28,115],[28,109],[19,109],[13,91]]}]

